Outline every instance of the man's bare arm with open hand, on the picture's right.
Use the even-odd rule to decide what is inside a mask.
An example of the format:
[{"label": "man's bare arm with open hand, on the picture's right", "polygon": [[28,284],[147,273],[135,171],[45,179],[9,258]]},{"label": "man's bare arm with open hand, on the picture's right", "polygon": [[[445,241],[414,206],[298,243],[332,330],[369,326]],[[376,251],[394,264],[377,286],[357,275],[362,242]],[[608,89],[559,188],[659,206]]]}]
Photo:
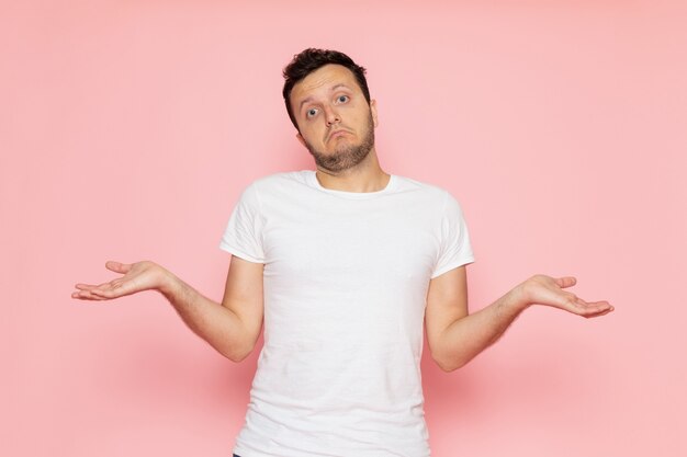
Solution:
[{"label": "man's bare arm with open hand, on the picture's right", "polygon": [[593,318],[613,310],[608,301],[585,301],[563,290],[574,277],[536,275],[486,308],[468,313],[465,267],[431,281],[427,297],[427,339],[433,359],[446,372],[465,365],[496,342],[513,321],[531,305],[545,305]]}]

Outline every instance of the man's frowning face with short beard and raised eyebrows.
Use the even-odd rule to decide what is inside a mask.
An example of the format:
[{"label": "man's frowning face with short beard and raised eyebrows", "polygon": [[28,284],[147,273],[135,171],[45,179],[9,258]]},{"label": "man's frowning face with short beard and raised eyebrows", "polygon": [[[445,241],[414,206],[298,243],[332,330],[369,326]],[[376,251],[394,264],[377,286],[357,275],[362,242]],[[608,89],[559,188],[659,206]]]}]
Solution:
[{"label": "man's frowning face with short beard and raised eyebrows", "polygon": [[376,103],[368,104],[348,68],[326,65],[309,73],[293,87],[291,106],[296,136],[319,168],[350,169],[374,148]]}]

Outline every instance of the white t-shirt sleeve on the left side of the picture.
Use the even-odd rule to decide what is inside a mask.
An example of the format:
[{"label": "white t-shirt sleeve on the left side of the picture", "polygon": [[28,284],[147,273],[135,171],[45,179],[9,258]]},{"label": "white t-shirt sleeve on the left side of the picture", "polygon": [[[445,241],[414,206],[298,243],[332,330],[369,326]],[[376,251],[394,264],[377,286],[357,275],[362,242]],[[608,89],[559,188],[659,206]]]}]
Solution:
[{"label": "white t-shirt sleeve on the left side of the picture", "polygon": [[234,207],[219,249],[249,262],[264,263],[263,222],[254,183],[246,187]]}]

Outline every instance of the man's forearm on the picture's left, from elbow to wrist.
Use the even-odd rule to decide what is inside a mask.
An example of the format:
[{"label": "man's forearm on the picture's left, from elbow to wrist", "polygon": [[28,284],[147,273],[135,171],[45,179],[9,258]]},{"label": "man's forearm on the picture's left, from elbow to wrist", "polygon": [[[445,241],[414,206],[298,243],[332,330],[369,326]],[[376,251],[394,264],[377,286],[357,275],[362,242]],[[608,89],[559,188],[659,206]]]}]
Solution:
[{"label": "man's forearm on the picture's left, from elbow to wrist", "polygon": [[222,355],[240,362],[250,353],[245,328],[229,308],[204,297],[171,273],[167,275],[160,293],[185,324]]}]

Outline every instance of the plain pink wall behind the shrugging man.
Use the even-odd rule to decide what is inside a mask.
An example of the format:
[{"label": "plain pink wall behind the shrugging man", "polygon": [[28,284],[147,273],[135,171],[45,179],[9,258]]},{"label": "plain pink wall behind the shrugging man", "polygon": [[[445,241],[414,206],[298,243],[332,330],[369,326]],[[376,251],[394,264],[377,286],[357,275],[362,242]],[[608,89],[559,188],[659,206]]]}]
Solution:
[{"label": "plain pink wall behind the shrugging man", "polygon": [[426,352],[432,455],[687,455],[684,2],[1,9],[1,455],[229,455],[258,351],[69,294],[151,259],[221,299],[240,191],[312,168],[281,100],[308,46],[368,67],[382,165],[462,203],[473,310],[540,272],[616,306],[531,309],[451,374]]}]

